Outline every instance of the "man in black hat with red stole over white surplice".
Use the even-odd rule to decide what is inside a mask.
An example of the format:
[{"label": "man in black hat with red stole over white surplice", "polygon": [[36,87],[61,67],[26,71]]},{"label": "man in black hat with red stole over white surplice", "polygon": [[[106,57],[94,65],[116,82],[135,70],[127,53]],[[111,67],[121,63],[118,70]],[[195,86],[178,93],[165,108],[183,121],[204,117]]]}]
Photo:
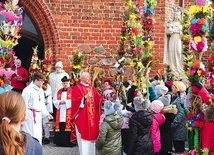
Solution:
[{"label": "man in black hat with red stole over white surplice", "polygon": [[70,79],[64,76],[61,79],[63,88],[59,89],[53,98],[56,110],[56,126],[54,142],[57,146],[71,146],[71,96]]}]

